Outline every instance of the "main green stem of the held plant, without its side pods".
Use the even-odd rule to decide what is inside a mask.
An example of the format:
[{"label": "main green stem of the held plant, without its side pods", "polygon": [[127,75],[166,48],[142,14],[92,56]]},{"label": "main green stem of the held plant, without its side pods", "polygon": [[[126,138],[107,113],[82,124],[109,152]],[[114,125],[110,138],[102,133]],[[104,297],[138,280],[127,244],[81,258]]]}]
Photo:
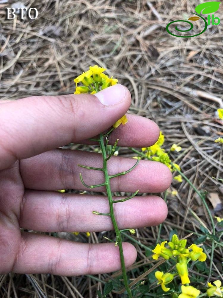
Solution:
[{"label": "main green stem of the held plant, without its side pods", "polygon": [[111,191],[111,187],[110,187],[110,179],[109,179],[109,174],[108,174],[108,169],[107,169],[106,149],[105,149],[105,144],[104,144],[104,136],[102,133],[100,134],[99,144],[100,144],[100,149],[101,149],[101,153],[103,156],[103,169],[104,169],[104,176],[105,176],[105,183],[106,183],[106,192],[107,192],[108,200],[109,200],[110,217],[112,220],[112,224],[113,224],[114,231],[116,234],[117,244],[119,247],[120,261],[121,261],[121,267],[122,267],[122,273],[123,273],[123,281],[124,281],[125,289],[128,292],[128,297],[132,298],[132,292],[128,286],[128,279],[127,279],[127,274],[126,274],[126,270],[125,270],[125,261],[124,261],[121,233],[120,233],[120,230],[118,228],[118,225],[117,225],[117,222],[116,222],[116,219],[114,216],[112,191]]}]

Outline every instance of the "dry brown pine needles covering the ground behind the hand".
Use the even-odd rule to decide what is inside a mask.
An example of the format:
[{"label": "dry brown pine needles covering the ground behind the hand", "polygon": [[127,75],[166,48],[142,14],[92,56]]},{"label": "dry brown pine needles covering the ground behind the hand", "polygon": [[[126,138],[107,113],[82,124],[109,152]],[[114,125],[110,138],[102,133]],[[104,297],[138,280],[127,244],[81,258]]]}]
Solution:
[{"label": "dry brown pine needles covering the ground behind the hand", "polygon": [[[223,134],[216,115],[216,109],[223,107],[222,24],[208,26],[194,38],[169,35],[166,25],[185,15],[188,19],[197,4],[186,0],[31,0],[22,3],[37,8],[36,20],[22,21],[17,15],[7,21],[4,7],[15,2],[0,1],[1,100],[70,94],[73,78],[81,71],[94,64],[106,67],[131,91],[130,113],[156,121],[166,148],[173,143],[183,148],[172,153],[172,160],[196,187],[211,193],[209,207],[213,215],[223,217],[222,183],[212,178],[222,178],[223,169],[222,146],[214,143]],[[220,18],[222,7],[216,13]],[[200,32],[196,23],[194,32]],[[126,149],[120,154],[133,156]],[[172,229],[180,237],[198,232],[201,225],[210,230],[202,202],[189,185],[174,182],[173,188],[178,195],[167,196],[169,215],[161,238],[168,238]],[[157,234],[158,227],[139,229],[135,238],[150,246]],[[88,241],[84,235],[78,240]],[[92,233],[89,241],[105,240],[101,233]],[[133,268],[137,273],[151,261],[143,247],[136,244],[136,248],[138,262]],[[222,272],[221,258],[222,251],[216,249],[213,276]],[[131,281],[136,273],[128,272]],[[101,288],[100,280],[108,277],[7,274],[0,277],[0,296],[91,298]]]}]

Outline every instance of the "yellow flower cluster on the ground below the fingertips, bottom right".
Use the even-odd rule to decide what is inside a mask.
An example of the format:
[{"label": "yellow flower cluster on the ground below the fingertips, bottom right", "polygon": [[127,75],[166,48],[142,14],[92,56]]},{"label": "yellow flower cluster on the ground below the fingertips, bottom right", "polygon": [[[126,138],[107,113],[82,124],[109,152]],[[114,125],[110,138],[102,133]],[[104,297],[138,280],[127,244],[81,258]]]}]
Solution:
[{"label": "yellow flower cluster on the ground below the fingertips, bottom right", "polygon": [[190,261],[197,260],[204,262],[207,258],[206,254],[203,252],[201,247],[198,247],[194,243],[187,247],[187,240],[179,239],[176,234],[172,236],[171,241],[168,243],[169,247],[165,247],[166,243],[167,241],[163,241],[161,244],[158,243],[155,249],[152,250],[152,252],[154,252],[152,257],[154,260],[158,260],[160,256],[166,260],[174,260],[176,262],[176,272],[164,273],[161,271],[156,271],[155,276],[158,280],[158,284],[161,285],[163,291],[167,292],[170,288],[167,288],[166,285],[172,282],[174,276],[178,275],[182,283],[182,293],[179,297],[197,297],[200,291],[192,286],[189,286],[190,279],[188,273],[188,263]]}]

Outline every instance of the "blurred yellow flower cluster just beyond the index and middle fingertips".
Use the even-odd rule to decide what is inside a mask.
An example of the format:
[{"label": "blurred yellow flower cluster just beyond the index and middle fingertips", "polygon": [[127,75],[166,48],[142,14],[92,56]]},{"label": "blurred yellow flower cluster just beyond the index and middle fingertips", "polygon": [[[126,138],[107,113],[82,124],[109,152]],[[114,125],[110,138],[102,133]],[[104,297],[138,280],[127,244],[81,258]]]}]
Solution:
[{"label": "blurred yellow flower cluster just beyond the index and middle fingertips", "polygon": [[[161,148],[162,145],[164,144],[164,141],[165,141],[165,137],[162,134],[162,132],[160,132],[158,141],[153,146],[142,148],[143,154],[148,159],[155,160],[157,162],[162,162],[171,170],[171,172],[174,172],[175,168],[180,170],[180,167],[178,164],[174,163],[173,165],[175,168],[172,167],[168,152],[165,152],[164,148]],[[181,149],[182,148],[180,146],[173,144],[169,151],[179,152]],[[181,175],[175,176],[174,179],[177,180],[178,182],[183,181]]]}]

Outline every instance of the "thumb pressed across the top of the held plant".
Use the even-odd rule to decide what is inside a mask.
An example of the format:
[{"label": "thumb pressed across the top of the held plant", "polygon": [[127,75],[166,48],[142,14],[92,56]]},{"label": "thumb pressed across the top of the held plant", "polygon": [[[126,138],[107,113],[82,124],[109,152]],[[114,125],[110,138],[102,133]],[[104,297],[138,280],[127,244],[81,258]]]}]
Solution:
[{"label": "thumb pressed across the top of the held plant", "polygon": [[34,96],[0,105],[0,169],[105,131],[131,104],[118,84],[95,95]]}]

